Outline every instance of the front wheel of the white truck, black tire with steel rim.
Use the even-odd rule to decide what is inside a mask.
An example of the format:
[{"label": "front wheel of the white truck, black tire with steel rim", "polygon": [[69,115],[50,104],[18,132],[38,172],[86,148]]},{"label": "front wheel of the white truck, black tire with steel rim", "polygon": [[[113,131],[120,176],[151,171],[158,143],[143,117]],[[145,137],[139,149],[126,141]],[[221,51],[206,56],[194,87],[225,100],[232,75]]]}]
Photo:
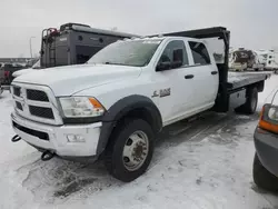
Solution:
[{"label": "front wheel of the white truck, black tire with steel rim", "polygon": [[153,152],[153,131],[148,122],[130,119],[116,127],[106,150],[106,167],[115,178],[130,182],[148,168]]}]

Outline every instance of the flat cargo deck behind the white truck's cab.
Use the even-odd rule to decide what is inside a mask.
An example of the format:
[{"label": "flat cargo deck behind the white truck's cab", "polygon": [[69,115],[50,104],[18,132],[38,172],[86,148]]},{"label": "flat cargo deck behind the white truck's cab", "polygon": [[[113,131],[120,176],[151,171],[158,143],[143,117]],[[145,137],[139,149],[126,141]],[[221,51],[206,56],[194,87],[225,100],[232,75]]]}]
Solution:
[{"label": "flat cargo deck behind the white truck's cab", "polygon": [[270,73],[264,72],[228,72],[228,90],[235,90],[248,84],[267,80]]}]

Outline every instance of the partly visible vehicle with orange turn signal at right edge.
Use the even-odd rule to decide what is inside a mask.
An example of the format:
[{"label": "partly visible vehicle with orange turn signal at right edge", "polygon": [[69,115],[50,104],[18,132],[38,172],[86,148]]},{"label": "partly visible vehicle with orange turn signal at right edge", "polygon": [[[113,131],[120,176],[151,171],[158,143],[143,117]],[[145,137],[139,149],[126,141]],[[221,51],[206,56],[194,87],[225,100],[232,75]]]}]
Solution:
[{"label": "partly visible vehicle with orange turn signal at right edge", "polygon": [[278,90],[264,106],[254,138],[254,181],[264,189],[278,190]]}]

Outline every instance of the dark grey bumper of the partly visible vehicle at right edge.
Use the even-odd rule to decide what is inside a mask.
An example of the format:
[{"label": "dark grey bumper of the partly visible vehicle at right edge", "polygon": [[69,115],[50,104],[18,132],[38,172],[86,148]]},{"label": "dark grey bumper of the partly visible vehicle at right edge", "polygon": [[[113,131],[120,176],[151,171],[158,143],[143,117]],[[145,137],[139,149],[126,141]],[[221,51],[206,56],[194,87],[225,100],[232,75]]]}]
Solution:
[{"label": "dark grey bumper of the partly visible vehicle at right edge", "polygon": [[278,135],[257,128],[254,138],[262,166],[278,177]]}]

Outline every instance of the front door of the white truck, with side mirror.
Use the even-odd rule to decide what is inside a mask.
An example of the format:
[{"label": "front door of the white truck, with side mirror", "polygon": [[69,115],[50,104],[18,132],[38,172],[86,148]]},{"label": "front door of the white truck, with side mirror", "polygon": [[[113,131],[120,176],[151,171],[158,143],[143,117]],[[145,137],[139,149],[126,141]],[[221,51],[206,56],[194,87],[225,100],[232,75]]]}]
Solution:
[{"label": "front door of the white truck, with side mirror", "polygon": [[[185,118],[195,106],[191,101],[193,69],[188,68],[188,46],[183,40],[171,40],[167,43],[156,64],[156,88],[152,97],[159,97],[158,104],[165,125]],[[167,63],[169,66],[167,67]],[[165,64],[165,69],[159,68]]]}]

